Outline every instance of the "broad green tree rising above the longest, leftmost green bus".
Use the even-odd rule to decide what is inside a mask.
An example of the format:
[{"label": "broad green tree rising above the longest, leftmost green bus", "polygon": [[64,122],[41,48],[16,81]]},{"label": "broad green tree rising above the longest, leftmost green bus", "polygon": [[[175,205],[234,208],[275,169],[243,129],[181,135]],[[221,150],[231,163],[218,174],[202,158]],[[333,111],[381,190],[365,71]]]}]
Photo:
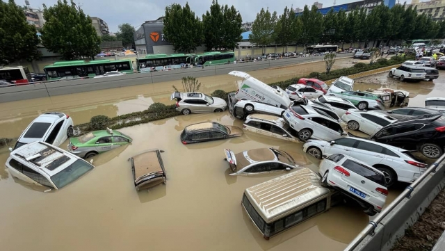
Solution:
[{"label": "broad green tree rising above the longest, leftmost green bus", "polygon": [[49,51],[62,54],[66,60],[84,56],[93,58],[100,52],[100,37],[91,19],[74,1],[58,0],[47,8],[43,5],[46,23],[42,28],[42,43]]}]

